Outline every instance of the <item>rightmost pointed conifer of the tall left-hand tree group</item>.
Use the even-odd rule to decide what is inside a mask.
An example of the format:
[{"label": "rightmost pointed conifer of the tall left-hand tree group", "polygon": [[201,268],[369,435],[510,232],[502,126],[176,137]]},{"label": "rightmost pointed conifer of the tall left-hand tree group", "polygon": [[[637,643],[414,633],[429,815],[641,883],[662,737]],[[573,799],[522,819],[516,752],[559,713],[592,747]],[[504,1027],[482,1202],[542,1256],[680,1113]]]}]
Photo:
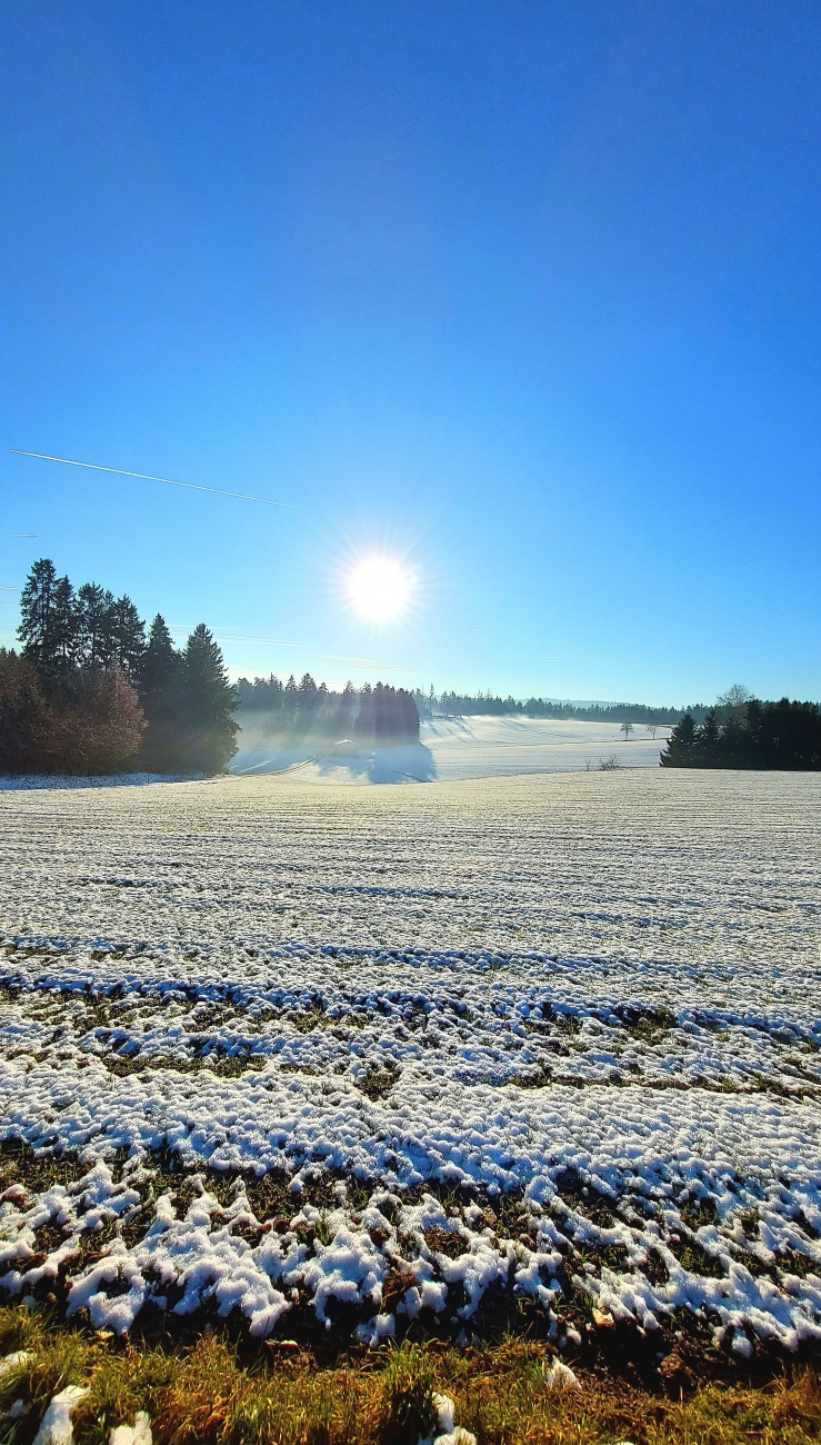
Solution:
[{"label": "rightmost pointed conifer of the tall left-hand tree group", "polygon": [[237,705],[223,653],[199,623],[188,639],[182,672],[182,738],[192,772],[218,773],[230,763],[237,751]]}]

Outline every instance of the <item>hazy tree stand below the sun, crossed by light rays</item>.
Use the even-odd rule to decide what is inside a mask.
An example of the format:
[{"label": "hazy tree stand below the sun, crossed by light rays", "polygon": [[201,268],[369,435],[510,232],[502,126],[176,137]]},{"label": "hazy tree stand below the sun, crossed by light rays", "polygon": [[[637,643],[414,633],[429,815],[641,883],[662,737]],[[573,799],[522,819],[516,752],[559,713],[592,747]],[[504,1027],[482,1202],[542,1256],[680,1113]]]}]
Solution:
[{"label": "hazy tree stand below the sun, crossed by light rays", "polygon": [[272,731],[296,743],[305,737],[332,738],[390,747],[419,741],[419,712],[413,694],[386,682],[348,682],[334,692],[317,683],[309,672],[301,682],[288,682],[272,672],[267,678],[237,682],[240,721],[243,712],[266,712]]}]

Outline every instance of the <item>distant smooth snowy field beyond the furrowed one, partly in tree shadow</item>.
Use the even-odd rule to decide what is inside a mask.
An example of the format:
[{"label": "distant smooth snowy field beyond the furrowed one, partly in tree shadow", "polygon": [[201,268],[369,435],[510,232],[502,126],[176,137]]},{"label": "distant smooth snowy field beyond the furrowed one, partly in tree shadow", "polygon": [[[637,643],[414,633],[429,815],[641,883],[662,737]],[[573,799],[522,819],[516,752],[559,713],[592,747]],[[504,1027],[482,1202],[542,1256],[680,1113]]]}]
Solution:
[{"label": "distant smooth snowy field beyond the furrowed one, partly in tree shadow", "polygon": [[306,740],[285,746],[272,737],[265,714],[241,715],[236,773],[273,773],[289,769],[301,782],[405,783],[460,777],[510,777],[517,773],[562,773],[598,769],[616,759],[620,767],[658,767],[669,728],[656,738],[636,724],[630,740],[617,722],[558,722],[539,718],[476,717],[432,718],[421,725],[415,747],[363,750],[358,759],[340,759],[328,744]]}]

